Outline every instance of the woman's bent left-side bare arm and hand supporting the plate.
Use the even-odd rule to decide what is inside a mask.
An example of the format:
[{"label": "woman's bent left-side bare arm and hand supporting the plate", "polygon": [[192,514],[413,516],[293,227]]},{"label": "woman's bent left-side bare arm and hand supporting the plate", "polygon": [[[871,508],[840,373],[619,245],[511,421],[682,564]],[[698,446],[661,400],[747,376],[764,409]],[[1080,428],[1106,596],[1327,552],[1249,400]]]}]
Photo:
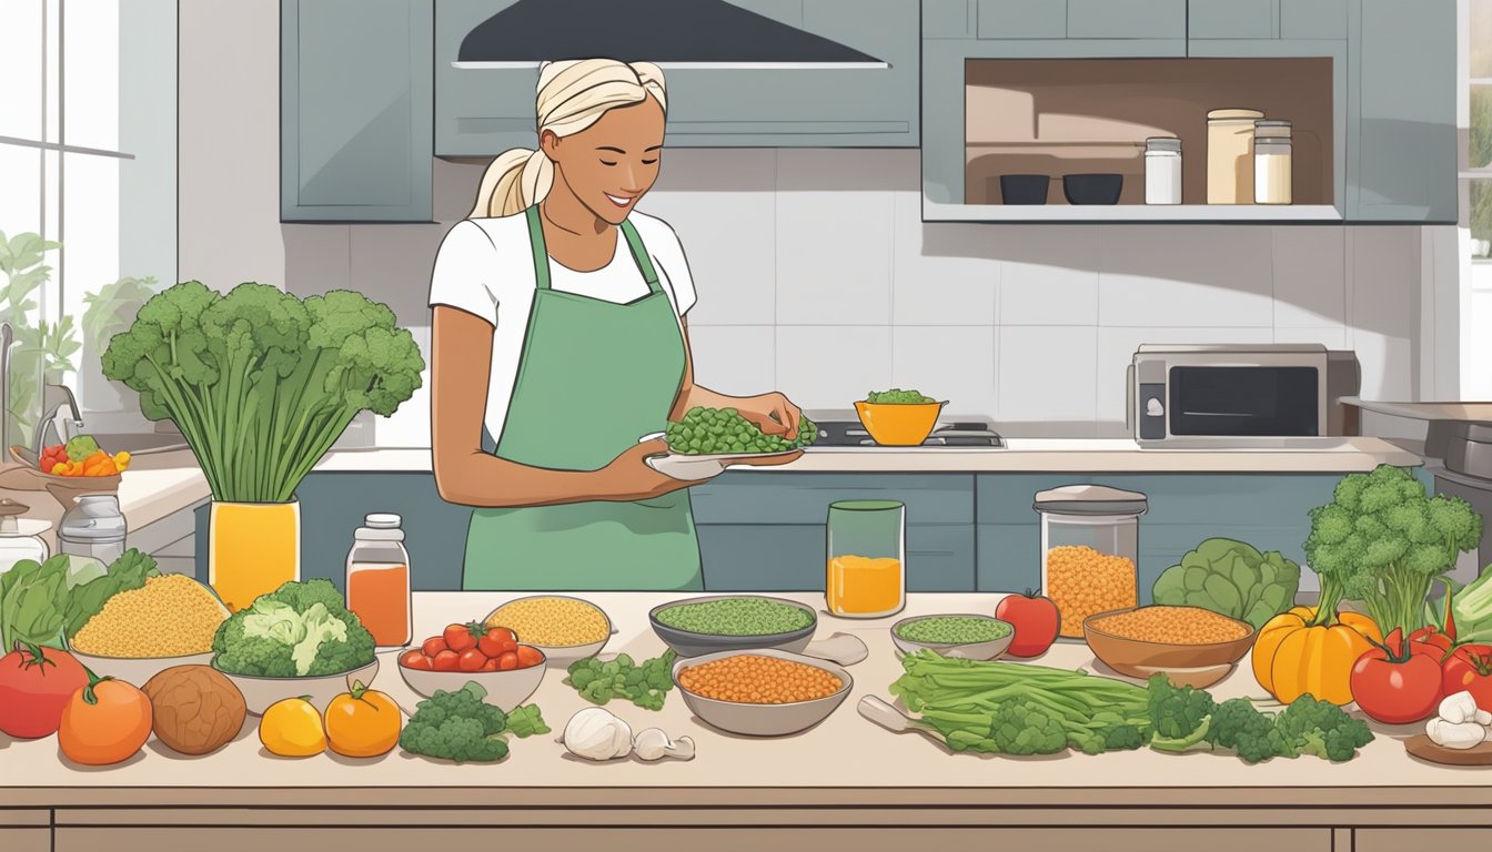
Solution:
[{"label": "woman's bent left-side bare arm and hand supporting the plate", "polygon": [[643,463],[664,442],[628,449],[595,472],[549,470],[482,452],[492,372],[492,327],[457,307],[436,306],[431,333],[430,439],[436,488],[448,503],[477,507],[640,500],[680,483]]}]

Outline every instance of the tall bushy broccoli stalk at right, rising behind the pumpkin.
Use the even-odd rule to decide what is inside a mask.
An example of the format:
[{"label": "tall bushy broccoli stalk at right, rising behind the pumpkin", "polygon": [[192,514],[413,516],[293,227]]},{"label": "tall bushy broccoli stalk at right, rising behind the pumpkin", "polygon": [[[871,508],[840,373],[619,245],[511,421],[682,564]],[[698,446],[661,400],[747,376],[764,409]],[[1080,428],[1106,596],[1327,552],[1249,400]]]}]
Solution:
[{"label": "tall bushy broccoli stalk at right, rising behind the pumpkin", "polygon": [[1482,539],[1471,504],[1429,497],[1411,473],[1386,464],[1343,477],[1310,519],[1306,560],[1320,576],[1317,622],[1341,600],[1359,600],[1385,634],[1423,627],[1431,585]]}]

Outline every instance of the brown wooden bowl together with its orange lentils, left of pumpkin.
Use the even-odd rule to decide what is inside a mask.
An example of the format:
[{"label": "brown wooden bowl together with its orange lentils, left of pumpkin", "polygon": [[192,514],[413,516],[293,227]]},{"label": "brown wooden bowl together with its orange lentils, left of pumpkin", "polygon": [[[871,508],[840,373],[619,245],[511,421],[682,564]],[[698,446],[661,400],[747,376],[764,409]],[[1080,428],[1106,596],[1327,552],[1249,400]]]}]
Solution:
[{"label": "brown wooden bowl together with its orange lentils, left of pumpkin", "polygon": [[1164,673],[1204,688],[1232,671],[1253,646],[1252,624],[1195,606],[1141,606],[1083,619],[1083,639],[1104,665],[1129,677]]}]

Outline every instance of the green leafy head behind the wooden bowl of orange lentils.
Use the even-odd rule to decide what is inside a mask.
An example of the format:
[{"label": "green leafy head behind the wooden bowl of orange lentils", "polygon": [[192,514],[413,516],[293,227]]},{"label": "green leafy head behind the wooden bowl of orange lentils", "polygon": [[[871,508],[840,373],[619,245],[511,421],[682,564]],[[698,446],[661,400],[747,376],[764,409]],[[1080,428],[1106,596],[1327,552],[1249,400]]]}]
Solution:
[{"label": "green leafy head behind the wooden bowl of orange lentils", "polygon": [[1295,604],[1301,567],[1279,551],[1259,552],[1232,539],[1207,539],[1161,571],[1158,604],[1195,606],[1246,621],[1255,628]]}]

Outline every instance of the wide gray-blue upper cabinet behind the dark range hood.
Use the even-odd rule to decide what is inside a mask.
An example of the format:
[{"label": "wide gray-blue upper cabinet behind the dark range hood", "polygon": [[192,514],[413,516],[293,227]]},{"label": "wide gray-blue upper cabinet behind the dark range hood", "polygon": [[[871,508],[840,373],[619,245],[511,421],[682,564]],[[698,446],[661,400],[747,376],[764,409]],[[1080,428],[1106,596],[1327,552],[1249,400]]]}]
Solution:
[{"label": "wide gray-blue upper cabinet behind the dark range hood", "polygon": [[[513,0],[442,0],[436,9],[436,154],[491,157],[534,139],[534,69],[457,69],[473,27]],[[916,148],[918,3],[734,0],[825,36],[889,69],[665,69],[676,148]]]}]

